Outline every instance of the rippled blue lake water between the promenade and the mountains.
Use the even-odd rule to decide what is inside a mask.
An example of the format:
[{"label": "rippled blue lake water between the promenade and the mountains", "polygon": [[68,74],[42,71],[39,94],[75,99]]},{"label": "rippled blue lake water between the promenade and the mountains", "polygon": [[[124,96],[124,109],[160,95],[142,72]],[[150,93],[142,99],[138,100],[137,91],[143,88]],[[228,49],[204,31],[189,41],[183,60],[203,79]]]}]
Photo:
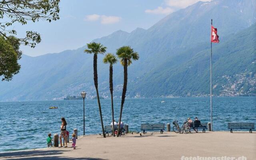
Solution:
[{"label": "rippled blue lake water between the promenade and the mountains", "polygon": [[[161,103],[164,100],[165,103]],[[119,118],[120,99],[114,99],[115,120]],[[171,123],[197,116],[210,122],[210,98],[127,99],[122,121],[130,131],[139,131],[142,123]],[[24,105],[22,105],[24,104]],[[97,100],[86,100],[86,134],[101,132]],[[110,100],[101,100],[105,125],[111,122]],[[58,106],[58,109],[48,109]],[[228,122],[255,122],[256,97],[214,97],[214,130],[228,130]],[[59,133],[60,118],[67,129],[83,132],[82,100],[0,102],[0,152],[46,147],[48,132]]]}]

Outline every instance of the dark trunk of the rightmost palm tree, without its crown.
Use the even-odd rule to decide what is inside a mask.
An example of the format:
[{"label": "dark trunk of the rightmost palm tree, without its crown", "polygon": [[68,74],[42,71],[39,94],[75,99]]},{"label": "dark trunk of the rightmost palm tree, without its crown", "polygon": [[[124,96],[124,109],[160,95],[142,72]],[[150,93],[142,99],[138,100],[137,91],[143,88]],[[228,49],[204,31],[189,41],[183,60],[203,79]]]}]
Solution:
[{"label": "dark trunk of the rightmost palm tree, without its crown", "polygon": [[124,86],[123,86],[123,93],[122,93],[122,101],[121,101],[121,109],[120,109],[120,118],[119,118],[119,125],[117,130],[117,137],[119,137],[120,132],[120,124],[122,119],[122,111],[124,106],[125,94],[127,89],[127,79],[128,79],[128,72],[127,72],[127,60],[124,61]]}]

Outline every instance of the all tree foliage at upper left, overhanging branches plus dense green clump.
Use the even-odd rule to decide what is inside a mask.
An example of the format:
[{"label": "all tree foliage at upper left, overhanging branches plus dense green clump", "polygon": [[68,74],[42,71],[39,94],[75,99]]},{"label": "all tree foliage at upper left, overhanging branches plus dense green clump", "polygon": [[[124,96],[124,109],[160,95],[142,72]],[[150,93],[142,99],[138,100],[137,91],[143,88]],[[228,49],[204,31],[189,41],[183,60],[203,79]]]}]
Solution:
[{"label": "all tree foliage at upper left, overhanging branches plus dense green clump", "polygon": [[41,42],[40,34],[26,31],[26,37],[16,38],[16,30],[10,29],[15,23],[22,25],[29,21],[58,20],[60,0],[0,0],[0,76],[12,80],[20,70],[18,60],[22,52],[20,44],[34,48]]}]

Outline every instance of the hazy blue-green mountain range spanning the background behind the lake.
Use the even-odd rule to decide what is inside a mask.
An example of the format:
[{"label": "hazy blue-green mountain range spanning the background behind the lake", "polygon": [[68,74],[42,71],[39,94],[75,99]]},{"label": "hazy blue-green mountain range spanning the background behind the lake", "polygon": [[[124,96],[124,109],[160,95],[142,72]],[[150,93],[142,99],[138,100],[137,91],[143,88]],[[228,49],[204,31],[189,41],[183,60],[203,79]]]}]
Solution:
[{"label": "hazy blue-green mountain range spanning the background behind the lake", "polygon": [[[220,44],[213,45],[214,94],[255,95],[256,0],[197,2],[148,30],[119,30],[93,41],[107,46],[108,52],[130,45],[140,54],[140,60],[128,67],[128,97],[202,96],[210,88],[211,19],[220,36]],[[95,96],[93,57],[84,54],[84,48],[23,55],[20,73],[10,82],[0,82],[0,100],[50,100],[83,90]],[[122,69],[120,64],[114,66],[116,97],[122,92]],[[109,96],[108,65],[102,64],[102,56],[98,76],[100,94]]]}]

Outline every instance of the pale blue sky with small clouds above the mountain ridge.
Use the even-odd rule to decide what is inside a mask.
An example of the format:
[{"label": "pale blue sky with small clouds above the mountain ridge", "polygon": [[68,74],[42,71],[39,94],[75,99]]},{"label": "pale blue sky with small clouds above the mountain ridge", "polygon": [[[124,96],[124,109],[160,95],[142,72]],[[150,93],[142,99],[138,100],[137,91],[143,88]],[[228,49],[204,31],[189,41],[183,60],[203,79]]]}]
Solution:
[{"label": "pale blue sky with small clouds above the mountain ridge", "polygon": [[[14,24],[18,37],[27,30],[41,35],[35,48],[21,46],[23,54],[40,56],[80,48],[96,38],[123,30],[148,29],[168,14],[199,0],[61,0],[60,20]],[[201,0],[208,1],[208,0]]]}]

